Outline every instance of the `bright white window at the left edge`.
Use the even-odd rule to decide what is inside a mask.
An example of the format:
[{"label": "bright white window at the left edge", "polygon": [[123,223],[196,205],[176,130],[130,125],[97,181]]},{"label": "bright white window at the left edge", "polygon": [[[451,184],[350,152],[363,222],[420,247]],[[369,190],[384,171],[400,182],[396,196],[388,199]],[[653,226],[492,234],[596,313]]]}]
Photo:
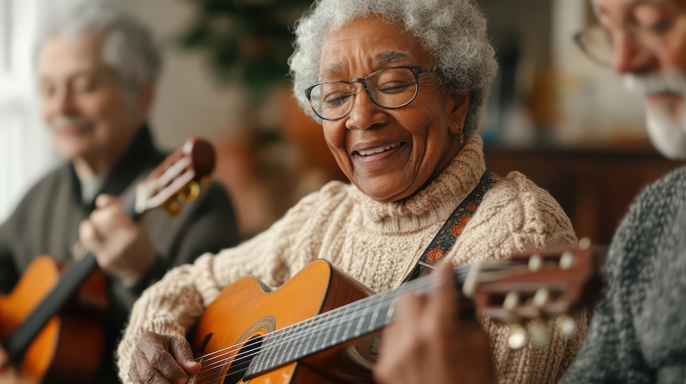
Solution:
[{"label": "bright white window at the left edge", "polygon": [[32,47],[49,0],[0,0],[0,221],[56,155],[38,117]]}]

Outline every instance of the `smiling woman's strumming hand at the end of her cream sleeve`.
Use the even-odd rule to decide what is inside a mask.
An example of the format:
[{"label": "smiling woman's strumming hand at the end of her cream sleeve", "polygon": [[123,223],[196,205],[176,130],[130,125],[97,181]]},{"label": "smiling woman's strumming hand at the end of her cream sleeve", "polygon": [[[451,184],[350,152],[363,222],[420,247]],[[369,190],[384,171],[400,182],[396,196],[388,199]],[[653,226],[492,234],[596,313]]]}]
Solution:
[{"label": "smiling woman's strumming hand at the end of her cream sleeve", "polygon": [[146,332],[139,337],[131,356],[129,378],[139,383],[184,384],[200,373],[191,346],[183,338]]}]

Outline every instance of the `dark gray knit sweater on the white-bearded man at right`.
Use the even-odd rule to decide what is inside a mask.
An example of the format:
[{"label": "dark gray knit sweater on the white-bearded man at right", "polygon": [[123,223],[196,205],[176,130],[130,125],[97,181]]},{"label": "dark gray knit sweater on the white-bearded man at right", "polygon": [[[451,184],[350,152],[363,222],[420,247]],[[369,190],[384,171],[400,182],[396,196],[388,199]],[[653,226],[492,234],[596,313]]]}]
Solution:
[{"label": "dark gray knit sweater on the white-bearded man at right", "polygon": [[637,197],[604,276],[606,291],[562,383],[686,383],[686,167]]}]

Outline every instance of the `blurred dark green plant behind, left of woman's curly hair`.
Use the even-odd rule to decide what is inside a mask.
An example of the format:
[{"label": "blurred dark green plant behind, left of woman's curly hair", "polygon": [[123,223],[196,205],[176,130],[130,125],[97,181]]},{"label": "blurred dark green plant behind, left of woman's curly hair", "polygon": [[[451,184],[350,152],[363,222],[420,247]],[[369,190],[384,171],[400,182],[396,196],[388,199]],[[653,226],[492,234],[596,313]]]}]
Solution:
[{"label": "blurred dark green plant behind, left of woman's curly hair", "polygon": [[182,47],[206,51],[217,78],[246,84],[260,100],[287,82],[292,26],[311,0],[189,0],[198,16],[180,37]]}]

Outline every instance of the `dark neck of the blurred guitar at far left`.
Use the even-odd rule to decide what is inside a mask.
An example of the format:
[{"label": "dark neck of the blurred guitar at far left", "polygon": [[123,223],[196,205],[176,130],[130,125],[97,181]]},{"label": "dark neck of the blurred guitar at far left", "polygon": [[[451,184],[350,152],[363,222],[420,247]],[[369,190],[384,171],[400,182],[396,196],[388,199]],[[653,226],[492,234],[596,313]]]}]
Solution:
[{"label": "dark neck of the blurred guitar at far left", "polygon": [[[137,220],[141,213],[135,210],[136,200],[132,198],[126,202],[124,209],[132,219]],[[88,251],[83,258],[67,269],[64,276],[52,289],[38,307],[17,327],[12,334],[3,341],[2,346],[8,352],[12,363],[19,365],[24,352],[33,339],[45,327],[50,318],[56,315],[74,296],[79,287],[97,267],[97,260],[93,252]]]}]

